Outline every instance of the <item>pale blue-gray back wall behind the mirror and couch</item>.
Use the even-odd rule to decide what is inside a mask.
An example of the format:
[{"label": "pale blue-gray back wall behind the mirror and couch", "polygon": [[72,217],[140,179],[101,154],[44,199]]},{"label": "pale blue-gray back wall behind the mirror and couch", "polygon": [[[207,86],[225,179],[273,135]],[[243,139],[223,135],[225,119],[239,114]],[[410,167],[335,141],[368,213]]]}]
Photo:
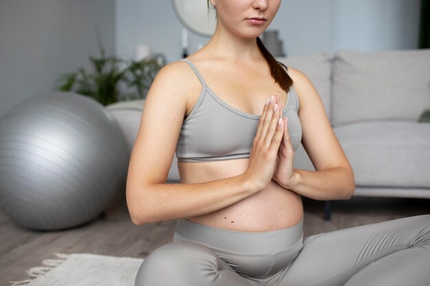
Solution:
[{"label": "pale blue-gray back wall behind the mirror and couch", "polygon": [[[181,58],[182,25],[170,0],[117,0],[115,12],[118,55],[133,58],[146,44],[170,62]],[[414,49],[419,15],[420,0],[283,0],[269,29],[280,30],[287,56]],[[191,52],[208,40],[189,38]]]}]

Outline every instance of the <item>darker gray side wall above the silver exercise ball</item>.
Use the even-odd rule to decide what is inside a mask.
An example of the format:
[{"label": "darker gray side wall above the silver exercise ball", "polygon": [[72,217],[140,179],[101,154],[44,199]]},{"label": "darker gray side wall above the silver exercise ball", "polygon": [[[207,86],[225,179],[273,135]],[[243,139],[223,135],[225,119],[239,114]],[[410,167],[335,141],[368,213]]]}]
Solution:
[{"label": "darker gray side wall above the silver exercise ball", "polygon": [[114,0],[1,0],[0,117],[98,56],[94,25],[114,54],[114,8]]}]

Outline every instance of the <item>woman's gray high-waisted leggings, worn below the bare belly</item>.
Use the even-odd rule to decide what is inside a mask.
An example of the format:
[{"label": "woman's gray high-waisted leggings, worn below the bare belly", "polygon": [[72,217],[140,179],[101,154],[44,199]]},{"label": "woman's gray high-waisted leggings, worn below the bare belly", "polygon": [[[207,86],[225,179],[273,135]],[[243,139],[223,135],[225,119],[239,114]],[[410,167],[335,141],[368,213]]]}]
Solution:
[{"label": "woman's gray high-waisted leggings, worn below the bare belly", "polygon": [[430,215],[303,239],[302,222],[267,233],[177,223],[136,286],[430,285]]}]

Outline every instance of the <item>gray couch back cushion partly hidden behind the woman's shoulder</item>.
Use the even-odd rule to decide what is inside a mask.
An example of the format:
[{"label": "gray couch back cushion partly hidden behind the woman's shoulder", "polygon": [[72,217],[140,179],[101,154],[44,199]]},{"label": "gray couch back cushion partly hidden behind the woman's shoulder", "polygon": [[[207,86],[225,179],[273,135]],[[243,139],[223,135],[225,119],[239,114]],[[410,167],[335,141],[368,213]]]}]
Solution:
[{"label": "gray couch back cushion partly hidden behind the woman's shoulder", "polygon": [[317,89],[324,107],[326,108],[327,116],[330,118],[331,62],[328,53],[276,59],[287,67],[294,67],[308,76]]}]

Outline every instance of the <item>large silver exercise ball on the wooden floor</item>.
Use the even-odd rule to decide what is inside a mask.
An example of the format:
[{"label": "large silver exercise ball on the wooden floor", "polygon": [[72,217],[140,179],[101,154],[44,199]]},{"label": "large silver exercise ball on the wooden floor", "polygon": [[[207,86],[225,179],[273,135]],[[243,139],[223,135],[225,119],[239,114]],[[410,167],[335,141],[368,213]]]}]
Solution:
[{"label": "large silver exercise ball on the wooden floor", "polygon": [[34,97],[0,119],[0,208],[21,226],[89,222],[124,191],[127,166],[120,126],[89,97]]}]

